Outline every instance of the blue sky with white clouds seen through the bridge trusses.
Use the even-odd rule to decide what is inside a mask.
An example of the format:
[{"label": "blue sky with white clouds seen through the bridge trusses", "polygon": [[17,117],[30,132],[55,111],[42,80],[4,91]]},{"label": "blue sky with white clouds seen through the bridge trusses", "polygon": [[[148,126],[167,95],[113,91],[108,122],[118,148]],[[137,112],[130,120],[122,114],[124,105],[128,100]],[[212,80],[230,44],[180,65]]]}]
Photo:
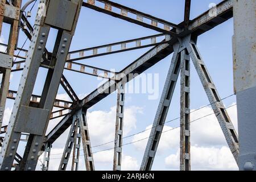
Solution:
[{"label": "blue sky with white clouds seen through the bridge trusses", "polygon": [[[134,8],[136,10],[142,11],[143,13],[151,14],[153,16],[165,19],[169,22],[176,23],[176,24],[182,22],[184,17],[184,2],[185,2],[184,0],[182,1],[175,1],[175,0],[117,1],[115,0],[114,2],[121,3],[122,5]],[[204,11],[208,10],[210,3],[219,3],[219,2],[221,1],[220,0],[219,1],[192,0],[191,19],[195,18],[201,13],[204,13]],[[37,6],[35,6],[34,8],[33,15],[35,15],[36,7]],[[33,17],[34,16],[30,18],[31,24],[34,24]],[[3,35],[7,34],[6,33],[7,27],[5,29],[6,30],[3,30]],[[98,13],[97,11],[82,7],[79,22],[77,24],[76,33],[75,33],[75,36],[73,37],[70,51],[81,49],[81,48],[100,46],[108,43],[119,42],[122,40],[140,38],[143,36],[154,35],[154,34],[158,34],[158,32],[150,30],[148,28],[138,26],[137,24],[126,22],[125,20],[117,19],[112,16]],[[227,22],[222,23],[220,26],[217,26],[213,30],[210,30],[207,33],[201,35],[197,41],[197,46],[199,47],[200,53],[204,58],[205,64],[208,67],[208,71],[212,76],[214,83],[216,84],[216,87],[218,89],[218,92],[221,98],[229,96],[230,94],[233,94],[232,35],[233,35],[233,19],[230,19]],[[56,36],[56,31],[55,30],[51,31],[48,42],[47,42],[47,48],[49,51],[51,51],[53,47],[55,36]],[[24,36],[23,32],[21,32],[20,39],[19,39],[19,47],[22,46],[25,39],[26,37]],[[28,46],[29,46],[29,42],[27,42],[24,48],[27,48]],[[139,56],[143,55],[143,53],[146,52],[148,49],[150,48],[143,48],[143,49],[138,49],[130,52],[123,52],[123,53],[117,53],[117,54],[108,55],[108,56],[95,57],[92,59],[80,60],[79,63],[84,63],[84,64],[88,64],[88,65],[92,65],[92,66],[96,66],[104,69],[115,69],[116,71],[120,71],[122,68],[129,65]],[[127,121],[127,123],[129,123],[130,126],[127,126],[127,130],[124,129],[126,130],[125,135],[130,135],[130,134],[142,131],[146,127],[152,124],[155,117],[158,102],[160,99],[160,94],[162,93],[164,81],[166,80],[168,68],[170,67],[171,57],[172,55],[167,56],[165,59],[163,59],[158,64],[154,65],[154,67],[148,69],[145,72],[145,73],[159,74],[158,100],[148,100],[148,94],[129,94],[129,93],[126,94],[125,109],[127,109],[127,113],[125,113],[125,121],[127,121],[127,118],[129,118],[131,121]],[[42,93],[46,73],[47,73],[46,69],[40,68],[38,78],[36,81],[36,87],[34,89],[34,94]],[[20,74],[21,72],[17,72],[13,74],[10,89],[17,90]],[[92,92],[94,89],[96,89],[97,85],[100,82],[99,80],[97,80],[96,77],[92,77],[89,75],[82,75],[76,72],[64,71],[64,75],[65,77],[67,77],[67,80],[70,82],[75,92],[80,96],[85,96],[86,94]],[[170,110],[167,115],[167,121],[170,121],[171,119],[179,117],[179,108],[180,108],[179,85],[180,85],[180,82],[178,81],[176,84],[174,96],[172,98]],[[61,87],[59,89],[58,94],[61,98],[62,97],[67,98],[67,96],[65,96],[65,91]],[[114,125],[112,128],[112,125],[108,125],[108,123],[111,123],[111,122],[114,123],[113,108],[115,110],[116,97],[117,96],[115,93],[110,94],[110,96],[98,102],[98,104],[94,105],[88,111],[89,112],[88,123],[89,123],[89,126],[90,125],[92,126],[92,130],[90,130],[90,135],[92,136],[91,137],[92,146],[96,144],[104,143],[104,142],[101,142],[99,138],[104,138],[104,137],[108,138],[109,132],[113,133],[114,131]],[[231,97],[227,100],[224,100],[225,106],[230,106],[234,102],[236,102],[235,97]],[[199,77],[197,76],[195,68],[193,67],[191,62],[191,109],[197,109],[201,106],[208,105],[208,104],[209,104],[209,101],[204,92],[203,86],[201,85]],[[6,109],[10,110],[12,105],[13,105],[13,101],[8,101],[6,105]],[[208,114],[209,112],[211,112],[211,110],[208,108],[202,111],[202,113],[204,114]],[[233,114],[232,118],[236,120],[236,111],[230,110],[230,113]],[[198,118],[197,116],[199,117],[200,113],[193,115],[194,118]],[[102,133],[97,133],[98,132],[97,130],[93,130],[93,129],[97,129],[97,124],[93,123],[93,122],[97,122],[98,121],[97,119],[100,120],[99,122],[102,123],[102,125],[106,124],[106,127],[110,127],[110,128],[106,129],[106,131],[102,131]],[[199,122],[207,122],[208,120],[210,123],[216,122],[216,125],[213,124],[209,126],[213,126],[212,131],[216,129],[217,130],[216,132],[218,132],[218,134],[221,137],[220,127],[217,124],[217,120],[214,120],[214,117],[205,118],[204,121],[199,121]],[[56,122],[58,121],[53,121],[51,123],[51,126],[53,126],[54,125],[53,123],[56,123]],[[176,127],[178,125],[179,125],[179,119],[175,122],[171,122],[167,124],[168,127]],[[193,123],[191,125],[193,125]],[[203,128],[204,126],[207,127],[207,125],[204,124],[201,126],[202,128],[200,130],[204,130]],[[208,128],[205,130],[210,131],[211,129]],[[61,148],[61,145],[64,147],[65,139],[66,139],[65,135],[67,135],[67,132],[68,131],[66,131],[65,134],[59,140],[57,140],[56,146],[55,144],[53,144],[52,154],[61,153],[61,150],[63,150],[63,148]],[[170,133],[171,132],[172,131],[170,131]],[[96,134],[93,134],[93,133],[96,133]],[[202,134],[204,133],[202,132]],[[179,139],[179,134],[177,133],[176,136],[170,135],[170,137],[175,137],[175,139],[170,138],[170,140],[176,141],[177,139]],[[204,138],[204,136],[201,136],[201,137]],[[136,138],[131,137],[129,139],[125,139],[123,143],[131,142],[135,139]],[[200,150],[200,152],[204,152],[204,151],[208,152],[209,148],[212,148],[212,151],[216,151],[217,154],[222,155],[222,153],[218,153],[218,152],[224,150],[225,155],[227,155],[228,158],[230,158],[229,151],[226,151],[226,148],[225,148],[226,147],[225,141],[223,142],[221,140],[221,142],[219,143],[216,142],[214,144],[214,140],[218,138],[214,138],[214,136],[210,136],[209,139],[210,139],[209,143],[205,143],[202,141],[200,141],[201,143],[199,141],[192,143],[194,144],[195,147],[197,147],[195,151]],[[167,137],[167,140],[168,140],[168,137]],[[166,143],[168,143],[168,141]],[[177,167],[175,167],[175,165],[168,163],[169,161],[173,162],[175,157],[174,155],[176,154],[178,147],[176,146],[176,144],[173,144],[173,143],[168,143],[168,144],[169,146],[167,145],[167,147],[165,148],[163,147],[164,148],[163,151],[160,151],[157,153],[157,157],[155,158],[155,162],[152,169],[155,169],[155,170],[178,169]],[[104,150],[105,148],[109,148],[112,146],[113,144],[112,145],[110,144],[108,146],[93,148],[93,151]],[[176,148],[172,148],[172,147],[176,147]],[[105,156],[105,158],[113,158],[111,152],[112,151],[110,151],[109,153],[107,152],[105,154],[104,153],[97,154],[97,160],[95,161],[96,169],[108,169],[108,170],[112,169],[111,160],[102,159],[102,155]],[[123,161],[126,162],[125,163],[126,167],[129,165],[137,166],[137,168],[127,168],[127,169],[138,169],[138,167],[141,164],[143,150],[140,150],[137,145],[131,144],[129,146],[123,147],[123,154],[124,154]],[[209,154],[212,154],[212,153],[209,153]],[[212,155],[215,155],[215,153]],[[61,155],[52,156],[52,158],[60,158],[60,157]],[[198,156],[196,157],[198,158]],[[192,158],[193,158],[193,155],[192,155]],[[82,161],[82,156],[80,159]],[[53,159],[53,161],[54,160],[57,160],[57,159]],[[200,160],[200,158],[198,160]],[[129,163],[129,161],[133,161],[134,163]],[[224,164],[222,166],[221,164],[216,164],[216,166],[218,165],[221,166],[221,167],[218,167],[217,169],[236,169],[236,167],[234,167],[235,166],[234,161],[232,161],[232,159],[230,159],[230,161],[229,162],[231,167],[225,166]],[[55,168],[55,166],[57,165],[57,162],[50,162],[50,163],[51,163],[50,166],[52,167],[52,169]],[[209,165],[208,166],[205,166],[205,165],[208,165],[208,164],[202,163],[201,167],[202,168],[205,167],[205,169],[216,169],[212,166],[208,167]],[[84,166],[82,166],[81,164],[81,169],[83,168]],[[197,163],[194,168],[192,163],[191,168],[201,169],[200,165]]]}]

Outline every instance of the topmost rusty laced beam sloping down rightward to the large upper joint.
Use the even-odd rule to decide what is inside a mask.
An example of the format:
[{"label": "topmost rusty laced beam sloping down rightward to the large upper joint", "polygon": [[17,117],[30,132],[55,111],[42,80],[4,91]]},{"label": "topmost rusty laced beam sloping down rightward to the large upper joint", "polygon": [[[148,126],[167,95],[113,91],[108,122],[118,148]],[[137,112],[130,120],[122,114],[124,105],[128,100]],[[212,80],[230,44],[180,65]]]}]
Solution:
[{"label": "topmost rusty laced beam sloping down rightward to the large upper joint", "polygon": [[[100,5],[98,6],[95,3],[95,1],[100,2],[101,6]],[[150,28],[155,31],[163,32],[164,34],[177,36],[176,31],[171,30],[171,28],[177,28],[176,24],[167,22],[166,20],[156,18],[154,16],[142,13],[140,11],[131,9],[129,7],[120,5],[120,4],[112,2],[112,1],[88,0],[87,2],[83,2],[82,6],[99,11],[101,13],[112,15],[116,18],[120,18],[120,19],[126,20],[131,23],[139,24],[140,26]],[[112,7],[115,7],[115,9],[118,9],[119,12],[115,13],[114,11],[112,11]],[[133,16],[130,16],[130,15],[136,16],[137,19],[133,18]],[[151,24],[146,23],[145,19],[150,21]]]}]

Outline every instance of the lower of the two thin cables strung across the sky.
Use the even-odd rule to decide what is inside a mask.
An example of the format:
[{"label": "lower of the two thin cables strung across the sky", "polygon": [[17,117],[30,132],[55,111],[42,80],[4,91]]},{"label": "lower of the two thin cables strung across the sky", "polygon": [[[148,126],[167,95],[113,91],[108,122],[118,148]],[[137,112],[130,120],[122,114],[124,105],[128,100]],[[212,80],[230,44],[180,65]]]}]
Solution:
[{"label": "lower of the two thin cables strung across the sky", "polygon": [[[230,107],[236,106],[236,105],[237,105],[237,104],[234,104],[234,105],[231,105],[231,106],[229,106],[229,107],[226,107],[225,110],[226,110],[226,109],[229,109]],[[193,122],[199,121],[200,119],[206,118],[206,117],[208,117],[209,115],[213,115],[213,114],[216,114],[216,113],[219,113],[219,114],[220,114],[220,113],[221,113],[221,110],[218,110],[218,111],[216,111],[216,112],[214,112],[214,113],[211,113],[211,114],[204,115],[203,117],[197,118],[197,119],[195,119],[195,120],[193,120],[193,121],[191,121],[191,122],[189,122],[189,123],[193,123]],[[219,115],[219,114],[218,114],[218,115]],[[218,116],[218,115],[217,115],[217,116]],[[184,124],[181,125],[181,126],[184,126]],[[177,127],[174,127],[174,128],[172,128],[172,129],[170,129],[170,130],[163,131],[162,134],[163,134],[163,133],[167,133],[168,131],[172,131],[172,130],[178,129],[179,127],[180,127],[180,126],[177,126]],[[143,138],[143,139],[135,140],[134,142],[129,142],[129,143],[122,144],[121,146],[127,146],[127,145],[129,145],[129,144],[141,142],[142,140],[145,140],[145,139],[148,139],[148,138],[154,137],[154,136],[155,136],[155,134],[154,134],[154,135],[151,135],[151,136],[149,136],[149,137]],[[105,150],[100,150],[100,151],[92,152],[92,154],[96,154],[96,153],[103,152],[103,151],[108,151],[108,150],[113,150],[114,148],[116,148],[116,147],[107,148],[107,149],[105,149]],[[84,154],[84,155],[85,155],[85,154]],[[80,155],[80,156],[84,156],[84,155]],[[80,157],[80,156],[79,156],[79,157]],[[69,156],[69,158],[72,158],[72,156]],[[61,159],[61,158],[50,158],[50,159]]]}]

